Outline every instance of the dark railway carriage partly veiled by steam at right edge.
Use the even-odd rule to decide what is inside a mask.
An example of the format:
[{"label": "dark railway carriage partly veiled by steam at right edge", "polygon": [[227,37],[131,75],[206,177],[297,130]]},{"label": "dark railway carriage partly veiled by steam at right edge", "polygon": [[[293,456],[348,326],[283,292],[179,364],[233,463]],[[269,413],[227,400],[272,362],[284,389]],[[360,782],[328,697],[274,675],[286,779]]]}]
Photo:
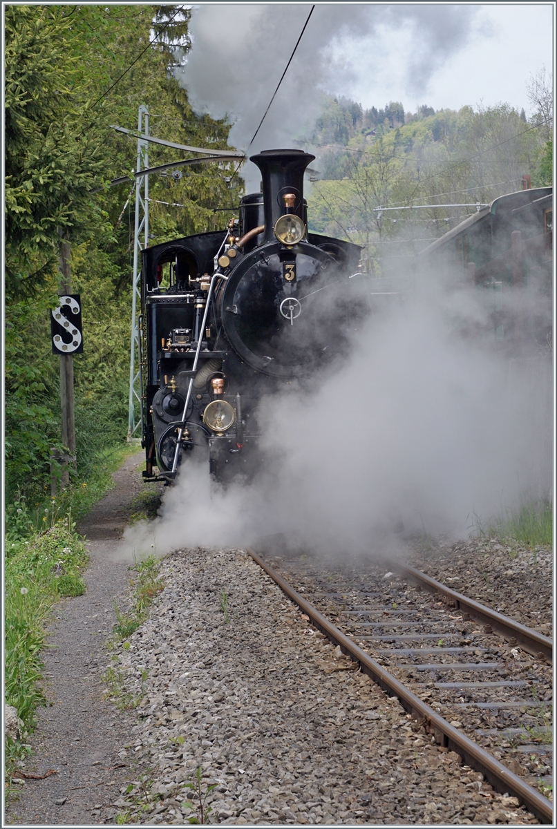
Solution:
[{"label": "dark railway carriage partly veiled by steam at right edge", "polygon": [[509,355],[550,348],[553,301],[553,190],[499,196],[414,259],[418,279],[436,271],[445,281],[483,293],[493,342]]}]

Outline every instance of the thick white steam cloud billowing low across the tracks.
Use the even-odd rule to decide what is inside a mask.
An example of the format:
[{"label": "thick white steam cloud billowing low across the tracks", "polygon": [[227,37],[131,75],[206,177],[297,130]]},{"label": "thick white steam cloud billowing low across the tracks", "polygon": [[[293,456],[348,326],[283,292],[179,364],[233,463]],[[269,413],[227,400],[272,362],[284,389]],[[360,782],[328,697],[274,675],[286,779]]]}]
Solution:
[{"label": "thick white steam cloud billowing low across the tracks", "polygon": [[331,554],[385,552],[400,546],[400,522],[465,537],[474,516],[500,514],[525,493],[547,497],[549,371],[539,360],[509,366],[486,347],[477,336],[486,310],[473,292],[432,283],[388,302],[310,390],[263,401],[269,462],[256,482],[218,491],[206,463],[187,461],[161,516],[128,529],[124,549],[245,545],[295,531]]}]

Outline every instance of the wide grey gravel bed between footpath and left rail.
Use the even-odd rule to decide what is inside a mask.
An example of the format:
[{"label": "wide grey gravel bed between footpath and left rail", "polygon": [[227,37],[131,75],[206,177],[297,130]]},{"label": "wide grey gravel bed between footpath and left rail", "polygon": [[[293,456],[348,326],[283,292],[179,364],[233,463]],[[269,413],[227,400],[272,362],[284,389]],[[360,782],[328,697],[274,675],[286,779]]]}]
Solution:
[{"label": "wide grey gravel bed between footpath and left rail", "polygon": [[144,686],[120,753],[137,763],[114,802],[127,821],[186,822],[201,768],[213,823],[537,823],[433,744],[244,551],[180,550],[161,574],[111,663],[128,691]]}]

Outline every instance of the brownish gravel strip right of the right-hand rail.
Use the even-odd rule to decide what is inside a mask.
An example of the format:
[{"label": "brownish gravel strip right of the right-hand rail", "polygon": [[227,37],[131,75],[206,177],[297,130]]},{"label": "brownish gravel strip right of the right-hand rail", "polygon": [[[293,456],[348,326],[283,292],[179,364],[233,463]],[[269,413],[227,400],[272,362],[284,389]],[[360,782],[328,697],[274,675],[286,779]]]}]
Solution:
[{"label": "brownish gravel strip right of the right-hand rail", "polygon": [[[421,546],[421,549],[420,549]],[[553,550],[472,539],[454,544],[414,545],[409,565],[433,579],[505,613],[516,622],[551,636],[553,630]]]}]

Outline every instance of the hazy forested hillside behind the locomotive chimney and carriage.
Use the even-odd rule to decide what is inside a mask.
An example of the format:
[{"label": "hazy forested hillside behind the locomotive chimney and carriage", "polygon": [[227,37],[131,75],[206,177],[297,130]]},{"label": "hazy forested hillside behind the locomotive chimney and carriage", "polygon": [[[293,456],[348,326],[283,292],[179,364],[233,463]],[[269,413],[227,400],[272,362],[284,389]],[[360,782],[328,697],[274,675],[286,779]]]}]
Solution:
[{"label": "hazy forested hillside behind the locomotive chimney and carriage", "polygon": [[[552,87],[545,71],[528,91],[530,120],[510,104],[458,112],[421,106],[413,114],[400,102],[364,110],[346,98],[327,99],[308,136],[322,153],[308,199],[312,229],[363,245],[367,269],[380,275],[383,259],[415,255],[477,202],[520,190],[523,176],[532,187],[549,185]],[[377,210],[424,205],[433,207]]]}]

